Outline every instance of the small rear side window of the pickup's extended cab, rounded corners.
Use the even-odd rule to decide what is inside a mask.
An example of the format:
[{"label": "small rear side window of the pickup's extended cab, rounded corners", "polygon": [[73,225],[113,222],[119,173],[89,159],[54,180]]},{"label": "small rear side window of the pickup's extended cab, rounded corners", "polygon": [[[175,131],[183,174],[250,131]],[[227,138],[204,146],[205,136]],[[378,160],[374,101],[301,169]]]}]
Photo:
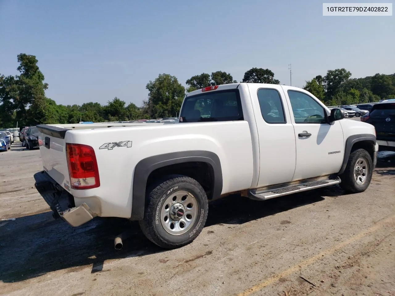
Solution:
[{"label": "small rear side window of the pickup's extended cab, rounded corners", "polygon": [[268,124],[285,124],[284,108],[280,94],[271,88],[258,90],[258,101],[263,120]]}]

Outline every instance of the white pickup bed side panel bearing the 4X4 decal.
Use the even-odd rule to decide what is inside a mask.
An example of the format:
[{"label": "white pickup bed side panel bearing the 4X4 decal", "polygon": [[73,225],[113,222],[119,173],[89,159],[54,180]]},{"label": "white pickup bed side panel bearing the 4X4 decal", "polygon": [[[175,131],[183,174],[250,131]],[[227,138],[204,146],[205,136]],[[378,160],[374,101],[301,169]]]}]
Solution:
[{"label": "white pickup bed side panel bearing the 4X4 decal", "polygon": [[[132,141],[132,147],[99,149],[105,143]],[[188,150],[206,150],[218,155],[223,177],[222,194],[248,189],[253,174],[252,142],[246,121],[169,124],[161,126],[112,127],[75,130],[66,142],[94,148],[100,187],[71,189],[75,204],[97,203],[100,216],[131,215],[132,185],[136,164],[146,157]]]}]

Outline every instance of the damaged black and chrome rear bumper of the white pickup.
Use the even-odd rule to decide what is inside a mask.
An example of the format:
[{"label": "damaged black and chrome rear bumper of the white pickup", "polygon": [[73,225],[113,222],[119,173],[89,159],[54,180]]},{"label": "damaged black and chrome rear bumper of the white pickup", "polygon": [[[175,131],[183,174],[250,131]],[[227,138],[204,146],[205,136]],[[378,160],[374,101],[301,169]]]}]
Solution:
[{"label": "damaged black and chrome rear bumper of the white pickup", "polygon": [[54,212],[72,227],[78,227],[97,216],[86,203],[75,206],[73,196],[64,190],[45,171],[34,174],[34,186]]}]

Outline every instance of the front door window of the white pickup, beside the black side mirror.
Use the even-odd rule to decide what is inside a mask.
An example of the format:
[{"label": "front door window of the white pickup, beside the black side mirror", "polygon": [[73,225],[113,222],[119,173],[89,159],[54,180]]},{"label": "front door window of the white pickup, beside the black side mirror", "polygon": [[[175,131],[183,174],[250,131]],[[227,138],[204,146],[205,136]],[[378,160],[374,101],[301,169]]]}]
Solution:
[{"label": "front door window of the white pickup, beside the black side mirror", "polygon": [[312,97],[295,90],[288,90],[288,97],[290,97],[295,123],[320,124],[326,122],[324,108]]}]

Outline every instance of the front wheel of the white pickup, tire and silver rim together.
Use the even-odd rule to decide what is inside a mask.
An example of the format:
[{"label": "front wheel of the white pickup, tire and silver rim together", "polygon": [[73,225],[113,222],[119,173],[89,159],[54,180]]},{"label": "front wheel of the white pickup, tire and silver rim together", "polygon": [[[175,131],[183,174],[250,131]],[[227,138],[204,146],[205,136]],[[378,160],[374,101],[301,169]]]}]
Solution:
[{"label": "front wheel of the white pickup, tire and silver rim together", "polygon": [[372,180],[373,162],[365,149],[357,149],[350,154],[346,169],[340,175],[340,187],[349,193],[363,192]]}]

